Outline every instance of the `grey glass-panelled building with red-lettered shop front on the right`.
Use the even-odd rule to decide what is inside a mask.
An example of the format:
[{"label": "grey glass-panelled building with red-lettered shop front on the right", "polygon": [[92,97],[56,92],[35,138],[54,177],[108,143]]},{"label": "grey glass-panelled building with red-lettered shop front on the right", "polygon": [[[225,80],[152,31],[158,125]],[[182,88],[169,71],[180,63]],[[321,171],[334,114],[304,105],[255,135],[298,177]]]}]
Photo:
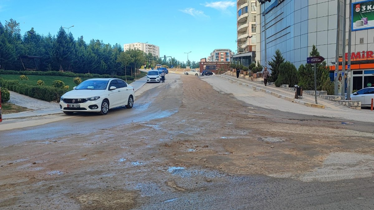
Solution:
[{"label": "grey glass-panelled building with red-lettered shop front on the right", "polygon": [[[346,40],[343,40],[344,0],[272,0],[258,4],[256,61],[269,67],[267,63],[279,49],[285,60],[298,68],[301,64],[307,63],[307,57],[315,45],[330,70],[335,70],[339,35],[338,57],[341,72],[342,60],[347,59],[348,56],[348,26],[351,10],[353,17],[352,55],[349,55],[352,58],[351,90],[374,85],[374,27],[370,24],[370,21],[373,21],[370,19],[371,14],[374,12],[371,11],[371,14],[368,12],[373,1],[352,0],[352,2],[351,7],[349,1],[346,4]],[[343,42],[346,44],[344,50]],[[334,72],[330,73],[330,77],[334,78]]]}]

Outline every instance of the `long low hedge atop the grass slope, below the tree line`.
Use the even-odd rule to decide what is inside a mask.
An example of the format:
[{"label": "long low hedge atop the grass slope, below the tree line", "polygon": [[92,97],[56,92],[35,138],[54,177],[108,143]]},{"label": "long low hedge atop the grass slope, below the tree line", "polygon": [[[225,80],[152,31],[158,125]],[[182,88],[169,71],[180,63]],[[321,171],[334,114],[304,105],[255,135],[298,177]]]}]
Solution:
[{"label": "long low hedge atop the grass slope, below the tree line", "polygon": [[18,75],[39,75],[39,76],[62,76],[62,77],[86,77],[86,78],[117,78],[121,80],[134,80],[131,76],[111,76],[109,74],[76,74],[73,72],[61,71],[12,71],[0,70],[0,74],[18,74]]}]

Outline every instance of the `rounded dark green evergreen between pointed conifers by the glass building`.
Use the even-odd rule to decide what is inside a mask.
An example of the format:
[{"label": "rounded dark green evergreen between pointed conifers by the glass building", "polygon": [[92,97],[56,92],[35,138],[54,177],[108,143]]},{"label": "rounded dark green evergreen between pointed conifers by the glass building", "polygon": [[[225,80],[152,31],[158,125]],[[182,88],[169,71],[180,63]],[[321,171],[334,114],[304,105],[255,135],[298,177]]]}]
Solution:
[{"label": "rounded dark green evergreen between pointed conifers by the glass building", "polygon": [[298,81],[297,69],[294,64],[287,61],[279,66],[279,75],[275,81],[275,86],[279,87],[282,84],[288,84],[289,87],[293,87]]}]

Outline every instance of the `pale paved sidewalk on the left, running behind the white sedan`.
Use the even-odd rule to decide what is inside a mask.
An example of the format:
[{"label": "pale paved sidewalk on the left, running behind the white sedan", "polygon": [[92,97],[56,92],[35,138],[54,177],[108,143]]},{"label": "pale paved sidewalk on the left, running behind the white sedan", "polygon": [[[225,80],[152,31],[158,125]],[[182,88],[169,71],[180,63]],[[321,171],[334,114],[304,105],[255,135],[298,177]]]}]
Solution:
[{"label": "pale paved sidewalk on the left, running behind the white sedan", "polygon": [[[134,87],[134,90],[139,90],[145,83],[147,78],[142,77],[138,80],[135,80],[130,85]],[[12,114],[3,114],[3,120],[18,119],[18,118],[27,118],[27,117],[36,117],[50,114],[62,114],[59,104],[55,102],[47,102],[39,99],[31,98],[13,91],[10,92],[9,103],[24,106],[29,109],[34,109],[33,111],[18,112]]]}]

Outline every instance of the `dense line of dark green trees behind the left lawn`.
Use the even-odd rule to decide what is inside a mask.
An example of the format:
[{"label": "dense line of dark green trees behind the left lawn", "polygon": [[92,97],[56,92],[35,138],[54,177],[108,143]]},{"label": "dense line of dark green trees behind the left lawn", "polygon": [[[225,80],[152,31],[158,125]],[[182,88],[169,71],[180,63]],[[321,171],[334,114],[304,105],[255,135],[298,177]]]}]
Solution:
[{"label": "dense line of dark green trees behind the left lawn", "polygon": [[[19,56],[40,56],[36,61],[40,71],[72,71],[74,73],[131,75],[138,74],[144,65],[153,67],[156,64],[174,68],[186,68],[187,62],[175,58],[154,58],[151,53],[139,49],[123,51],[121,44],[105,44],[102,40],[92,39],[89,43],[83,36],[75,39],[73,34],[66,33],[60,27],[57,35],[41,35],[34,28],[21,35],[19,23],[13,19],[0,22],[0,69],[24,70]],[[148,64],[148,61],[150,61]],[[153,62],[154,60],[154,62]],[[33,60],[23,59],[25,68],[34,69]],[[199,68],[199,62],[191,62],[191,68]]]}]

